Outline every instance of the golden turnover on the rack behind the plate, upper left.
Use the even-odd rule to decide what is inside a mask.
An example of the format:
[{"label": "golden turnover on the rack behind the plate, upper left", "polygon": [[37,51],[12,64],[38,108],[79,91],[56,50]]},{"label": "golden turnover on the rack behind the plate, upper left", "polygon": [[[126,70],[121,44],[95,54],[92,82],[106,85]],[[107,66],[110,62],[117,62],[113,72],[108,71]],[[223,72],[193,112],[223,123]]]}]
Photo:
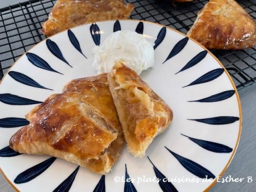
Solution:
[{"label": "golden turnover on the rack behind the plate, upper left", "polygon": [[123,0],[58,0],[42,25],[42,33],[51,36],[82,24],[110,19],[126,19],[134,6]]}]

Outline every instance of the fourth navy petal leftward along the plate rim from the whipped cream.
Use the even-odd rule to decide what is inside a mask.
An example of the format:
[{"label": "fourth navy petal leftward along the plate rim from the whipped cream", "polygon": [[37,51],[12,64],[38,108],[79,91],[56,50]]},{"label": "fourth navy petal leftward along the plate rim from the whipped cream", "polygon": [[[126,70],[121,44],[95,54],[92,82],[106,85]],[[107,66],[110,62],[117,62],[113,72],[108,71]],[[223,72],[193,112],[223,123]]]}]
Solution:
[{"label": "fourth navy petal leftward along the plate rim from the whipped cream", "polygon": [[[56,70],[52,69],[51,66],[48,64],[48,62],[46,62],[44,59],[42,59],[41,57],[39,57],[38,55],[34,54],[34,53],[26,53],[28,60],[36,67],[41,68],[41,69],[45,69],[48,71],[52,71],[55,73],[59,73]],[[63,75],[62,73],[59,73],[61,75]]]}]

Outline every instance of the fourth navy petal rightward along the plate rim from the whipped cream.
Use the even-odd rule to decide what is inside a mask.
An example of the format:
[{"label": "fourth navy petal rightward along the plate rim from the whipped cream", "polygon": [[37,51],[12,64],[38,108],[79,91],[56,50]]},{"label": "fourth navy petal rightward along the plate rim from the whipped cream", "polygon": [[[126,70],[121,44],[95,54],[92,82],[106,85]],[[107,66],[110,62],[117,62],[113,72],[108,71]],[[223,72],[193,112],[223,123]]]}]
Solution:
[{"label": "fourth navy petal rightward along the plate rim from the whipped cream", "polygon": [[195,81],[188,84],[187,86],[184,86],[183,88],[188,87],[188,86],[194,86],[195,84],[212,81],[212,80],[218,78],[219,76],[221,76],[221,74],[223,72],[224,72],[224,69],[221,69],[221,68],[209,71],[209,72],[205,73],[204,75],[202,75],[201,77],[199,77],[198,79],[196,79]]}]

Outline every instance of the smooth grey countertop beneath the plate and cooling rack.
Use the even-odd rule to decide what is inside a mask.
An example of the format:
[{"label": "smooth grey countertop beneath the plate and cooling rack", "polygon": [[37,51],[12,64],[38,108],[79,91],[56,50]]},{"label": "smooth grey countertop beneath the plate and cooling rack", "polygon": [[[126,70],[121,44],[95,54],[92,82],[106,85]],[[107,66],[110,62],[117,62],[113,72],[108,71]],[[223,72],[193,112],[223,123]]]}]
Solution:
[{"label": "smooth grey countertop beneath the plate and cooling rack", "polygon": [[[27,0],[1,0],[0,8],[25,1]],[[254,130],[256,128],[256,83],[239,91],[239,95],[243,112],[242,134],[237,153],[223,177],[247,178],[251,176],[253,181],[248,183],[245,179],[238,183],[217,183],[210,189],[212,192],[256,191],[256,131]],[[15,191],[2,174],[0,174],[0,191]]]}]

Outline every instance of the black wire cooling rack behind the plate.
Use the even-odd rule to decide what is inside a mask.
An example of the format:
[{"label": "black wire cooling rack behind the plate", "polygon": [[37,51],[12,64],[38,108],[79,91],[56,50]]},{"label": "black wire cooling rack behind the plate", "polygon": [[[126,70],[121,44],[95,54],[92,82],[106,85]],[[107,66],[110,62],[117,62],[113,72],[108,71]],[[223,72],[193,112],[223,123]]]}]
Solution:
[{"label": "black wire cooling rack behind the plate", "polygon": [[[45,39],[41,24],[48,18],[54,0],[30,0],[0,9],[0,79],[17,58]],[[198,11],[208,2],[174,3],[172,0],[127,0],[135,10],[132,19],[157,22],[187,33]],[[256,0],[238,1],[256,19]],[[255,47],[241,51],[212,50],[240,90],[256,81]]]}]

